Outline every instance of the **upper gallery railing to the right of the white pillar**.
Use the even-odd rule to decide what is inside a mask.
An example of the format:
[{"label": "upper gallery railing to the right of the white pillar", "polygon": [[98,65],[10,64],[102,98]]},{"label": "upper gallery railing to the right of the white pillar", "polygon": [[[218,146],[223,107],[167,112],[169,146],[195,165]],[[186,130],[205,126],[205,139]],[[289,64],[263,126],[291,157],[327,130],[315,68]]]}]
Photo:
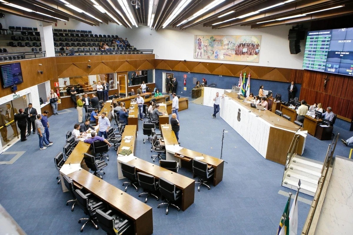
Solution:
[{"label": "upper gallery railing to the right of the white pillar", "polygon": [[153,54],[153,49],[148,50],[65,50],[55,51],[55,56],[72,55],[117,55],[117,54]]}]

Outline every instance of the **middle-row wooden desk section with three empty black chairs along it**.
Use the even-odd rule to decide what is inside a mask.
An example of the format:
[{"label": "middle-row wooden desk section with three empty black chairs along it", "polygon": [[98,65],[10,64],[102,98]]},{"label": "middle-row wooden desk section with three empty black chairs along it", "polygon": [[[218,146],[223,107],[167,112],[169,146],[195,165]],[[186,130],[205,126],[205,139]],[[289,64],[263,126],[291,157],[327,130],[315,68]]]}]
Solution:
[{"label": "middle-row wooden desk section with three empty black chairs along it", "polygon": [[139,158],[135,158],[128,163],[135,166],[139,172],[154,175],[158,179],[163,177],[175,184],[177,188],[181,189],[181,210],[185,211],[194,203],[195,180]]}]

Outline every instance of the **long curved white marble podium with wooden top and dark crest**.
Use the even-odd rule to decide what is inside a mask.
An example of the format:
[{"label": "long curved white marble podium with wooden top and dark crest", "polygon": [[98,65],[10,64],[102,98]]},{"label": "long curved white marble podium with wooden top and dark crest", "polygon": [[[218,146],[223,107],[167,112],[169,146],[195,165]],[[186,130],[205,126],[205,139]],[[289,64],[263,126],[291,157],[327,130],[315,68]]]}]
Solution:
[{"label": "long curved white marble podium with wooden top and dark crest", "polygon": [[294,135],[299,135],[297,154],[303,154],[306,131],[268,110],[257,110],[238,99],[238,94],[218,88],[204,88],[204,105],[213,106],[216,92],[225,94],[221,99],[220,117],[225,120],[265,159],[285,165],[287,151]]}]

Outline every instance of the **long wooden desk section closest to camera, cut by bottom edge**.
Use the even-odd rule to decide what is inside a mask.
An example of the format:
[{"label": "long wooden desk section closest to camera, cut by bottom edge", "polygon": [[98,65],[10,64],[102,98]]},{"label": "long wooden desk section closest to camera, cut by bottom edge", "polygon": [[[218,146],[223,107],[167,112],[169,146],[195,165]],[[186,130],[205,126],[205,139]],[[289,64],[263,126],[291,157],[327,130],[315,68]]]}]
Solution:
[{"label": "long wooden desk section closest to camera, cut by bottom edge", "polygon": [[126,216],[133,223],[135,234],[153,233],[152,208],[150,206],[84,169],[68,174],[68,177]]}]

